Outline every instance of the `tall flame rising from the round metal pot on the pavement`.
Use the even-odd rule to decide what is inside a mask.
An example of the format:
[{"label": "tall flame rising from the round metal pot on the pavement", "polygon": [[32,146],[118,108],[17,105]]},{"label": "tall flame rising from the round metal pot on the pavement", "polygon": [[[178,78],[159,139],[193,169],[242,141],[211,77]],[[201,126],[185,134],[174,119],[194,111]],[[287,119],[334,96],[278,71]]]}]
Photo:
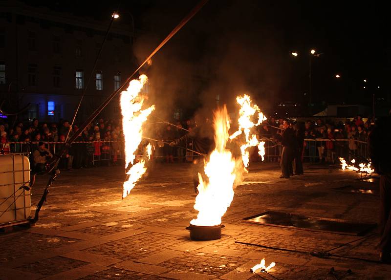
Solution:
[{"label": "tall flame rising from the round metal pot on the pavement", "polygon": [[194,209],[198,211],[196,219],[190,223],[198,226],[214,226],[221,224],[221,217],[225,214],[234,198],[234,182],[236,178],[236,161],[230,151],[225,149],[228,140],[229,117],[227,108],[214,112],[215,150],[210,155],[209,162],[205,162],[204,171],[208,177],[205,182],[198,173],[198,195],[195,198]]}]

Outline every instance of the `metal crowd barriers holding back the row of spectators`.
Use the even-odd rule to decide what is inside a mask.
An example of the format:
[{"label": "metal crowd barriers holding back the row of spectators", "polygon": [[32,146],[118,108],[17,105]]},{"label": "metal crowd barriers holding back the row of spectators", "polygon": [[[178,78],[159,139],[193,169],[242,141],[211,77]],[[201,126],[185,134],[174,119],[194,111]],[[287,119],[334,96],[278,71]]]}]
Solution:
[{"label": "metal crowd barriers holding back the row of spectators", "polygon": [[[144,141],[144,140],[143,140]],[[170,143],[173,140],[162,140],[162,142]],[[280,161],[282,153],[282,146],[278,142],[270,138],[260,137],[260,141],[265,141],[265,160],[270,162]],[[79,141],[73,142],[75,154],[73,157],[83,156],[87,163],[92,165],[99,163],[116,163],[118,160],[125,158],[125,141],[124,140],[109,140],[109,141]],[[145,140],[145,143],[149,141]],[[164,160],[166,158],[164,154],[164,145],[162,142],[154,142],[154,151],[152,158],[155,160]],[[56,153],[58,149],[64,145],[64,142],[43,142],[46,148]],[[331,143],[331,144],[330,144]],[[33,152],[38,148],[38,142],[9,142],[9,150],[13,153],[18,152]],[[83,145],[83,146],[78,146]],[[322,138],[306,138],[304,139],[303,158],[307,162],[328,162],[333,164],[339,164],[338,157],[343,157],[349,161],[355,157],[369,158],[367,142],[359,141],[356,139],[322,139]],[[174,146],[173,158],[178,162],[192,162],[199,155],[193,151],[194,141],[190,137],[184,141],[184,143]],[[78,150],[80,149],[80,150]],[[256,155],[258,151],[256,147],[253,148],[254,152],[250,154]],[[137,152],[138,156],[141,156],[143,152],[140,150]],[[253,160],[258,160],[254,159]]]}]

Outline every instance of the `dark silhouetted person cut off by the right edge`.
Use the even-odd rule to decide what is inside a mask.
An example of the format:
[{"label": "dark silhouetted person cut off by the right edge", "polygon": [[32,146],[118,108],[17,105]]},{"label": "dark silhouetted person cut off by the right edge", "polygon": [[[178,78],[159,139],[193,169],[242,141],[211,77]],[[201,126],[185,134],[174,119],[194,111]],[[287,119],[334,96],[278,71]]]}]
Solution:
[{"label": "dark silhouetted person cut off by the right edge", "polygon": [[369,134],[369,156],[380,174],[380,260],[391,263],[391,116]]}]

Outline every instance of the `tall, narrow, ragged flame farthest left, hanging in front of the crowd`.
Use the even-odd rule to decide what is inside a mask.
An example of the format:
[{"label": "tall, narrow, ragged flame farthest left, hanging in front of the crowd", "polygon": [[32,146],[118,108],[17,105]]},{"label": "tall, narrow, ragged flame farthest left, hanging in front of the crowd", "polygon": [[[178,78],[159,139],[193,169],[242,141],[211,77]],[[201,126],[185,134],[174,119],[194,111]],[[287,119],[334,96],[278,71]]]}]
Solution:
[{"label": "tall, narrow, ragged flame farthest left, hanging in front of the crowd", "polygon": [[[135,154],[142,140],[143,124],[155,108],[152,105],[143,109],[144,96],[140,94],[140,91],[146,82],[147,76],[141,75],[139,80],[130,81],[127,90],[121,92],[122,127],[125,136],[125,169],[129,175],[128,180],[123,185],[122,197],[126,197],[130,193],[136,182],[147,171],[145,167],[146,159],[140,159],[137,163],[135,162]],[[149,144],[147,146],[148,159],[151,151],[152,146]],[[131,167],[128,170],[130,164]]]}]

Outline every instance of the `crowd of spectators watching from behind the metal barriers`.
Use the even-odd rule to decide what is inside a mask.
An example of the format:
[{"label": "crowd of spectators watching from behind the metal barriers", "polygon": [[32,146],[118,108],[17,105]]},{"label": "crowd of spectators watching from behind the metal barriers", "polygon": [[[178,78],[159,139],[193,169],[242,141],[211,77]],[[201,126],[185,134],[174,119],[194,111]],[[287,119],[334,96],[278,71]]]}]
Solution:
[{"label": "crowd of spectators watching from behind the metal barriers", "polygon": [[[279,135],[282,133],[283,121],[283,119],[269,118],[255,131],[260,138],[270,139],[265,145],[274,149],[274,151],[266,149],[268,153],[266,156],[269,160],[278,161],[281,156]],[[302,126],[301,130],[306,139],[303,149],[304,160],[307,158],[310,161],[329,161],[331,153],[344,157],[348,153],[357,153],[364,147],[366,149],[367,137],[374,126],[374,120],[368,119],[364,122],[360,116],[357,116],[345,122],[318,119],[301,123],[291,122],[290,125],[295,129],[298,129],[299,125]],[[200,133],[203,134],[202,137],[207,134],[199,130],[211,128],[205,124],[200,127],[192,120],[172,124],[163,121],[150,124],[146,131],[149,137],[156,140],[154,157],[173,163],[174,161],[186,161],[192,152],[185,148],[196,151],[196,147],[192,146],[194,138],[199,137]],[[89,124],[83,131],[79,131],[77,125],[71,128],[69,121],[66,120],[61,120],[59,123],[44,123],[34,119],[31,123],[19,122],[14,126],[6,122],[0,123],[0,153],[31,152],[33,154],[38,150],[40,142],[43,142],[46,143],[46,148],[54,154],[63,147],[66,136],[70,137],[74,133],[79,133],[79,136],[60,162],[60,168],[70,170],[100,164],[117,164],[117,158],[123,153],[123,146],[121,146],[123,144],[120,140],[124,139],[120,119],[99,119]],[[209,133],[207,137],[213,139],[213,131]],[[189,137],[184,138],[184,135],[189,135]],[[175,146],[169,145],[170,142],[181,137],[185,141]],[[325,141],[320,139],[325,139]],[[52,142],[52,144],[47,145],[47,142]],[[105,159],[110,160],[105,161]],[[33,161],[33,158],[31,160]]]}]

